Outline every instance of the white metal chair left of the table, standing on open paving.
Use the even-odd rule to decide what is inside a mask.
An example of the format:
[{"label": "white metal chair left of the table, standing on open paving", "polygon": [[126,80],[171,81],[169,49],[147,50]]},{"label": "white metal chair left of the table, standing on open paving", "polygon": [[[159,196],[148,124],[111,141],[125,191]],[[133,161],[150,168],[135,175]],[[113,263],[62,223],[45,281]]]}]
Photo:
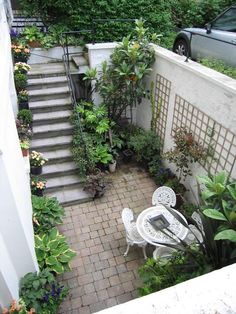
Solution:
[{"label": "white metal chair left of the table, standing on open paving", "polygon": [[124,253],[124,256],[127,256],[130,246],[137,244],[139,247],[143,249],[144,258],[147,259],[147,255],[146,255],[147,242],[138,233],[136,222],[134,220],[134,213],[132,209],[130,208],[123,209],[122,221],[125,226],[126,242],[127,242],[127,249]]}]

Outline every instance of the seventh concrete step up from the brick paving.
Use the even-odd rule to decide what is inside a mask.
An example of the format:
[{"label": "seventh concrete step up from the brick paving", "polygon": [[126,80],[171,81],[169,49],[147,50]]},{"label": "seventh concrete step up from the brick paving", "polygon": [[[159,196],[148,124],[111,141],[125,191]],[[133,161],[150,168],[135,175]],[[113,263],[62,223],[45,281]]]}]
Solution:
[{"label": "seventh concrete step up from the brick paving", "polygon": [[52,111],[33,114],[34,126],[66,122],[71,117],[71,110]]}]

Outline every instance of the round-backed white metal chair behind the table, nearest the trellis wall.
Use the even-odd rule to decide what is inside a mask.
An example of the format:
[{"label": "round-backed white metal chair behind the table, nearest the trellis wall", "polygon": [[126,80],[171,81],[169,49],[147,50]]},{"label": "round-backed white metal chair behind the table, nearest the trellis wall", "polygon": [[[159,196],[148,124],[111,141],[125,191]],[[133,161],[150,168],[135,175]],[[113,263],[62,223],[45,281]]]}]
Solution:
[{"label": "round-backed white metal chair behind the table, nearest the trellis wall", "polygon": [[152,205],[158,204],[174,207],[176,204],[175,192],[168,186],[157,188],[152,195]]}]

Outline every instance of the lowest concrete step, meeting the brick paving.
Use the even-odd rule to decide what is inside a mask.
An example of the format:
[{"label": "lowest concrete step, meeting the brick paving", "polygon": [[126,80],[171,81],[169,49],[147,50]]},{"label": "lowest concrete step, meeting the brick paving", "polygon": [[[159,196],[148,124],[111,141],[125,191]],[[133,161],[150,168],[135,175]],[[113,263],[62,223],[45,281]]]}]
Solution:
[{"label": "lowest concrete step, meeting the brick paving", "polygon": [[56,197],[59,203],[64,207],[90,202],[93,200],[92,196],[85,192],[82,187],[72,187],[69,189],[59,188],[55,192],[50,192],[50,190],[47,192],[46,189],[45,194],[50,197]]}]

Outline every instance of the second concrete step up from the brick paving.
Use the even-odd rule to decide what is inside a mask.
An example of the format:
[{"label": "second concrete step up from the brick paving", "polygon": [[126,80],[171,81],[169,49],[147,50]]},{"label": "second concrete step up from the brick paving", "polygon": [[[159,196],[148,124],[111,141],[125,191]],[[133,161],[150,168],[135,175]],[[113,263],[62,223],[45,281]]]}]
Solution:
[{"label": "second concrete step up from the brick paving", "polygon": [[84,179],[76,174],[47,179],[47,192],[57,191],[59,188],[81,187]]}]

